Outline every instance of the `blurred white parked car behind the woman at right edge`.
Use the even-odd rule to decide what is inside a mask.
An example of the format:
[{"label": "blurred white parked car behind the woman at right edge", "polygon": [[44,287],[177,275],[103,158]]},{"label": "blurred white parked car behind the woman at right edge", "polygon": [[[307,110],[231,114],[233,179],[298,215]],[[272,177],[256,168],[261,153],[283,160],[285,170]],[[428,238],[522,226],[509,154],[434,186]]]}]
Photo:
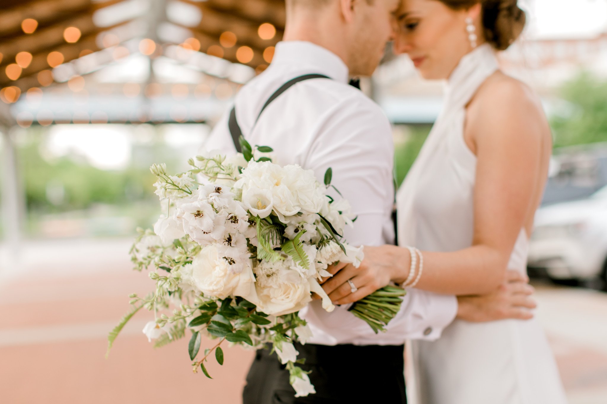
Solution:
[{"label": "blurred white parked car behind the woman at right edge", "polygon": [[607,187],[588,199],[541,207],[528,266],[551,279],[607,282]]}]

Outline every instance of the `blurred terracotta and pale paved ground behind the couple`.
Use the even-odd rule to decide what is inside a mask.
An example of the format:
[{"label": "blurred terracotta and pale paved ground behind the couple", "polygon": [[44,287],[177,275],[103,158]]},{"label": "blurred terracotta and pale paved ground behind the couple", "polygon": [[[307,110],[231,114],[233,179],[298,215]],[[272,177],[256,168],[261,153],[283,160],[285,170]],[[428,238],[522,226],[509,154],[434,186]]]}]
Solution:
[{"label": "blurred terracotta and pale paved ground behind the couple", "polygon": [[[214,380],[192,374],[188,340],[152,348],[141,333],[146,312],[104,359],[128,294],[151,285],[130,270],[128,247],[125,240],[28,243],[16,267],[0,246],[0,404],[241,402],[253,352],[225,349],[223,366],[209,361]],[[607,403],[607,294],[540,285],[537,297],[570,403]]]}]

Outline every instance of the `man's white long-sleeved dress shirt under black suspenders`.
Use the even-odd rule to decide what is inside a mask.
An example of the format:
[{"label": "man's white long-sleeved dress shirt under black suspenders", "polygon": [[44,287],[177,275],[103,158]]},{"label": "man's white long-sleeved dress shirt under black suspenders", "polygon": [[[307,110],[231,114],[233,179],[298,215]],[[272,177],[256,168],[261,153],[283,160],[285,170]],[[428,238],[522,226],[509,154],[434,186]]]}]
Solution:
[{"label": "man's white long-sleeved dress shirt under black suspenders", "polygon": [[[290,79],[310,73],[331,79],[310,79],[289,88],[263,111],[253,128],[274,91]],[[215,125],[203,145],[206,150],[234,153],[228,116],[229,111]],[[320,180],[332,168],[332,184],[358,215],[354,227],[345,230],[348,243],[394,242],[390,219],[394,200],[392,129],[381,108],[348,85],[348,68],[337,55],[311,42],[280,42],[270,67],[237,95],[236,116],[251,145],[274,148],[277,164],[299,164],[314,170]],[[401,345],[406,339],[438,339],[455,318],[455,297],[408,292],[386,333],[373,333],[345,306],[327,313],[318,300],[300,315],[313,331],[310,342],[321,345]]]}]

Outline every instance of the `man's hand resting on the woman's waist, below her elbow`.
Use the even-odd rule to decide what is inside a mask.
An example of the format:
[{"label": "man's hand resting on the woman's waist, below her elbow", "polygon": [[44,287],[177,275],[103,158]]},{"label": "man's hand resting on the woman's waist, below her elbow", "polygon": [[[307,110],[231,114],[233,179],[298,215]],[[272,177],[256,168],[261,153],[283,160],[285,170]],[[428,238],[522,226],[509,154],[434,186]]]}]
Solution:
[{"label": "man's hand resting on the woman's waist, below her elbow", "polygon": [[531,297],[533,286],[529,278],[518,271],[507,271],[507,280],[497,290],[481,296],[458,296],[457,318],[469,322],[504,319],[529,320],[531,309],[537,307]]}]

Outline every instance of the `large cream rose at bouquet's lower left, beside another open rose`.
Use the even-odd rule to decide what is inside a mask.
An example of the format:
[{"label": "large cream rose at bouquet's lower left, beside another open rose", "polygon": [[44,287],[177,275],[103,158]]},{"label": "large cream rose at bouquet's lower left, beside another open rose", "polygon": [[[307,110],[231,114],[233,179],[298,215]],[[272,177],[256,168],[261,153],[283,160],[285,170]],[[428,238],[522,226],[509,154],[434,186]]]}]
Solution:
[{"label": "large cream rose at bouquet's lower left, beside another open rose", "polygon": [[239,255],[236,248],[211,244],[194,257],[192,281],[206,296],[225,299],[248,294],[255,277],[251,260]]}]

